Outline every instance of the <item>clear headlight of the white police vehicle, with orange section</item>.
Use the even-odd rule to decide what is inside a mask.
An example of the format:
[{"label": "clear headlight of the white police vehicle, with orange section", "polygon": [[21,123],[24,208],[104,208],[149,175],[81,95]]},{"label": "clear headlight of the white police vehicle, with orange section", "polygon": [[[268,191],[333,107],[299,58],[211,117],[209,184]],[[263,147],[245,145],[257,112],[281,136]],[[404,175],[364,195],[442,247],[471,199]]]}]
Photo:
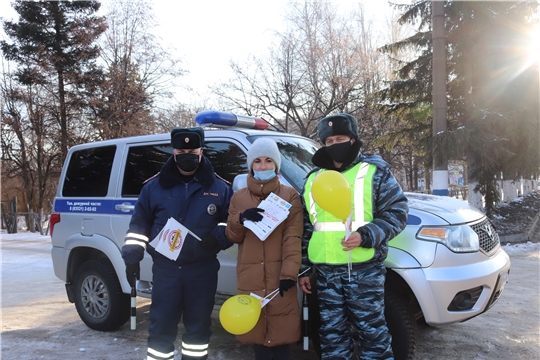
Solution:
[{"label": "clear headlight of the white police vehicle, with orange section", "polygon": [[416,237],[420,240],[439,242],[454,252],[480,250],[478,235],[467,225],[424,226]]}]

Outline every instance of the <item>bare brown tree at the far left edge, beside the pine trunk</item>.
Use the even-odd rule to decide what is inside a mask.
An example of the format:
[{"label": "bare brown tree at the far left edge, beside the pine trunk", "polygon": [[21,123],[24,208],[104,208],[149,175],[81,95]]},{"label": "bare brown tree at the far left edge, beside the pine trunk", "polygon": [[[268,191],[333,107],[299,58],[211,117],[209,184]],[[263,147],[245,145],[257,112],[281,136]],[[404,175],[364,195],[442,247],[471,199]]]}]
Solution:
[{"label": "bare brown tree at the far left edge, beside the pine trunk", "polygon": [[[2,62],[7,66],[5,62]],[[4,68],[0,81],[3,192],[17,195],[19,204],[35,211],[50,210],[61,167],[61,152],[56,141],[60,131],[51,116],[51,92],[43,85],[21,85]],[[6,188],[7,184],[7,188]]]}]

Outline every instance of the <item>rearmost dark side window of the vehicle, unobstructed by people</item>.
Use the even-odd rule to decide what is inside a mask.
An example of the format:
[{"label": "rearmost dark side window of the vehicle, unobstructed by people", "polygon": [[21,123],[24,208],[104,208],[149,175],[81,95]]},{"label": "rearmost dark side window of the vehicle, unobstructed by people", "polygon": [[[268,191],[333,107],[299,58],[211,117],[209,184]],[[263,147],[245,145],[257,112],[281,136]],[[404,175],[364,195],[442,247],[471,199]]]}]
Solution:
[{"label": "rearmost dark side window of the vehicle, unobstructed by people", "polygon": [[115,145],[75,151],[66,170],[62,196],[106,196],[115,152]]}]

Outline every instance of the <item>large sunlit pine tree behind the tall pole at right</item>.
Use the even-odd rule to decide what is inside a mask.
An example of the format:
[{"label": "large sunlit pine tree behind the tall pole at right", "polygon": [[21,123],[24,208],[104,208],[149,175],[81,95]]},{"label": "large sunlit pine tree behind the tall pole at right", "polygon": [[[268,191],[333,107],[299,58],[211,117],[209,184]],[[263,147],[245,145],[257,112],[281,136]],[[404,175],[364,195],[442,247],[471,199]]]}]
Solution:
[{"label": "large sunlit pine tree behind the tall pole at right", "polygon": [[[402,139],[418,136],[418,109],[431,97],[431,3],[405,5],[401,23],[416,26],[409,38],[384,48],[389,53],[412,48],[416,57],[402,62],[399,80],[381,95],[386,111],[402,121]],[[486,197],[489,214],[498,201],[497,176],[506,179],[538,171],[538,60],[530,62],[524,44],[538,26],[534,2],[447,1],[448,131],[436,137],[423,131],[426,154],[445,151],[467,159],[469,180]],[[431,129],[432,117],[425,119]],[[420,123],[423,123],[420,119]],[[394,136],[397,136],[394,134]],[[536,138],[535,138],[536,137]]]}]

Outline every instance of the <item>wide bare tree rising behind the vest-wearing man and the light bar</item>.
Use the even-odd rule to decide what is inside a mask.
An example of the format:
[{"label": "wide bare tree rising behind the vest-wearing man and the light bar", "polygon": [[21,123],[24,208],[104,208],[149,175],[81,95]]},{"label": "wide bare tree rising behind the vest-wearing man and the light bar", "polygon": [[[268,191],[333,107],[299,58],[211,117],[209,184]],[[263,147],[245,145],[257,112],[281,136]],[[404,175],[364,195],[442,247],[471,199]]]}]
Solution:
[{"label": "wide bare tree rising behind the vest-wearing man and the light bar", "polygon": [[286,132],[309,137],[333,112],[371,119],[372,94],[386,70],[363,8],[340,15],[330,2],[290,6],[288,29],[277,33],[270,55],[232,62],[234,77],[213,92],[230,110],[260,115]]}]

